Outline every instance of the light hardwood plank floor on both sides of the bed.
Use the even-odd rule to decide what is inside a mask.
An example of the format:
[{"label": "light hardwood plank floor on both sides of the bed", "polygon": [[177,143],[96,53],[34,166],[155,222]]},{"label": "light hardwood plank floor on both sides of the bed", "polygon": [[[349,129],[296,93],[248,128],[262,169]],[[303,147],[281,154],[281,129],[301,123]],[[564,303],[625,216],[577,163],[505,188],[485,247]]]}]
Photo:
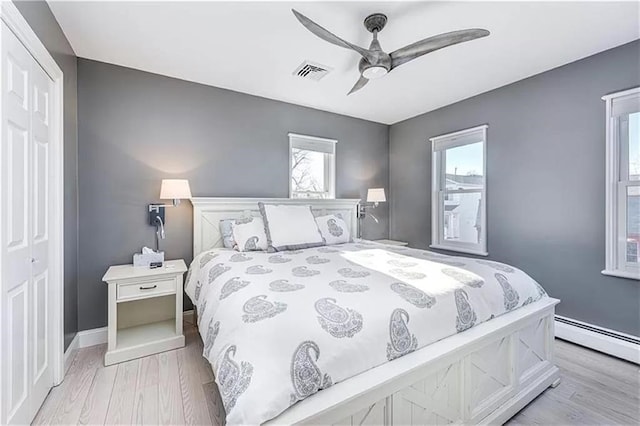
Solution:
[{"label": "light hardwood plank floor on both sides of the bed", "polygon": [[[76,351],[62,384],[34,424],[222,424],[224,410],[202,341],[185,324],[187,346],[104,367],[106,345]],[[638,425],[640,369],[556,340],[562,382],[513,417],[510,425]]]}]

